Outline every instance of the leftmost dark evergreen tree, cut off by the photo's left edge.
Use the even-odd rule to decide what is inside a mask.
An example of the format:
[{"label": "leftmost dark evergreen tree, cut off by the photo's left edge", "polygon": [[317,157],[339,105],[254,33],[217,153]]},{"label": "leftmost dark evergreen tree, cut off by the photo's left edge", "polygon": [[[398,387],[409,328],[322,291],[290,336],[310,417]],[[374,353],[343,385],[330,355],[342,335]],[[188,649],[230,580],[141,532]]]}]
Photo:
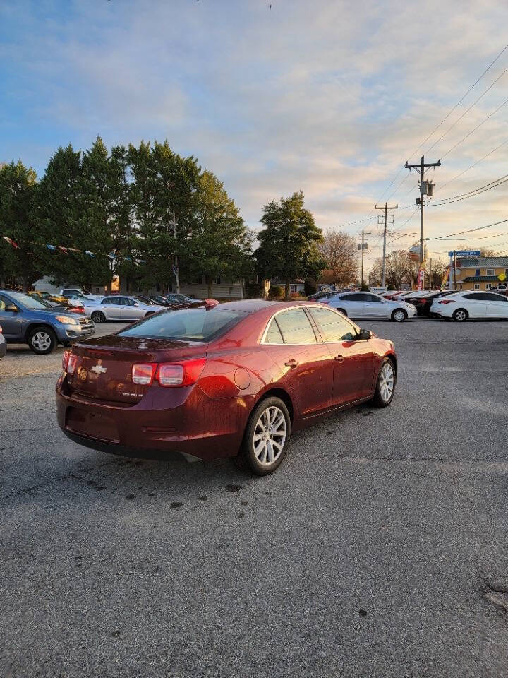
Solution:
[{"label": "leftmost dark evergreen tree, cut off by the photo's left edge", "polygon": [[20,279],[23,291],[40,278],[43,261],[33,217],[36,174],[20,160],[0,168],[0,235],[13,239],[18,247],[0,240],[0,283]]}]

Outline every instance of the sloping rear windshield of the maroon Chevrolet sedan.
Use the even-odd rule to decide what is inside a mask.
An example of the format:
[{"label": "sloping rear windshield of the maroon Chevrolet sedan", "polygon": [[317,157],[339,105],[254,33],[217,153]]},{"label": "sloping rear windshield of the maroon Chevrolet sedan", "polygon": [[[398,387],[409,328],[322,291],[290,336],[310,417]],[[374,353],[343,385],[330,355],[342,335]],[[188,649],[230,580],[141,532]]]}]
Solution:
[{"label": "sloping rear windshield of the maroon Chevrolet sedan", "polygon": [[211,341],[245,318],[241,311],[180,309],[166,311],[119,332],[121,337]]}]

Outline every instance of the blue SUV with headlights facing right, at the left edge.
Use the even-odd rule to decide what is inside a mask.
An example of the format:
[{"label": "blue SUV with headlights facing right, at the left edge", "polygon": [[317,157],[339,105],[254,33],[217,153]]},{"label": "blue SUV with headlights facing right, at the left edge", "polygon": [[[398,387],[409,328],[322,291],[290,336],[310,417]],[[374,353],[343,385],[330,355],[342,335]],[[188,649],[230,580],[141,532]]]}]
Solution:
[{"label": "blue SUV with headlights facing right, at the left edge", "polygon": [[28,344],[34,353],[51,353],[56,345],[95,334],[89,319],[65,309],[50,309],[22,292],[0,290],[0,326],[7,343]]}]

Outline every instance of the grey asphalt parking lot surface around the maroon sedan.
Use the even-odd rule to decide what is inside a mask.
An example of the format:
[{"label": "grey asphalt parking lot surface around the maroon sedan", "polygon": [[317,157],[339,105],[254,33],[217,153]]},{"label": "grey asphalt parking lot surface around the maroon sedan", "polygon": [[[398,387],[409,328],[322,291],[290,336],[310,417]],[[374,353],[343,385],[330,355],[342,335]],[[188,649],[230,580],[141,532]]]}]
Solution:
[{"label": "grey asphalt parking lot surface around the maroon sedan", "polygon": [[266,478],[71,443],[62,349],[9,347],[0,675],[505,677],[508,322],[363,326],[395,342],[394,402]]}]

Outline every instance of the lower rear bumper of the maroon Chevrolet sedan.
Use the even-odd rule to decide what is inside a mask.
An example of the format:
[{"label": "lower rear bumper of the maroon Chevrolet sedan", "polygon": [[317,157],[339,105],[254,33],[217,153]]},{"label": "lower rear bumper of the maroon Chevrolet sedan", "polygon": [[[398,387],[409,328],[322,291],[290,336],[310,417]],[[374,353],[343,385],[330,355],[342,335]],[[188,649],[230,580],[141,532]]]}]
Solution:
[{"label": "lower rear bumper of the maroon Chevrolet sedan", "polygon": [[195,388],[174,408],[157,409],[148,395],[128,407],[94,403],[66,394],[63,375],[56,387],[56,415],[68,438],[95,450],[153,458],[183,453],[211,460],[238,454],[247,417],[241,400],[212,400]]}]

